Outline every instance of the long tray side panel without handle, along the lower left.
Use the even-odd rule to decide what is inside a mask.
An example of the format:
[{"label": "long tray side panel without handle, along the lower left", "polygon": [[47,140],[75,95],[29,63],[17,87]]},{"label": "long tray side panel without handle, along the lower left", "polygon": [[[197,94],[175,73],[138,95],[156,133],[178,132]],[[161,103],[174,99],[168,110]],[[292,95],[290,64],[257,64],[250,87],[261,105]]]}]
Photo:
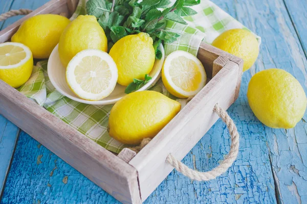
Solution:
[{"label": "long tray side panel without handle, along the lower left", "polygon": [[0,114],[123,203],[140,203],[137,171],[0,80]]}]

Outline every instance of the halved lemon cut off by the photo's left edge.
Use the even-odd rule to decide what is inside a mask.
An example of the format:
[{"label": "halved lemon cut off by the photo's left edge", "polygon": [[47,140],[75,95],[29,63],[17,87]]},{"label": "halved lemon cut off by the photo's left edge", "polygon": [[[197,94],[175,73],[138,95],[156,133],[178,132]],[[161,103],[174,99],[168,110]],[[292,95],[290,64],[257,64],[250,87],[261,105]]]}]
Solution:
[{"label": "halved lemon cut off by the photo's left edge", "polygon": [[17,88],[29,80],[32,69],[29,47],[18,42],[0,43],[0,80]]}]

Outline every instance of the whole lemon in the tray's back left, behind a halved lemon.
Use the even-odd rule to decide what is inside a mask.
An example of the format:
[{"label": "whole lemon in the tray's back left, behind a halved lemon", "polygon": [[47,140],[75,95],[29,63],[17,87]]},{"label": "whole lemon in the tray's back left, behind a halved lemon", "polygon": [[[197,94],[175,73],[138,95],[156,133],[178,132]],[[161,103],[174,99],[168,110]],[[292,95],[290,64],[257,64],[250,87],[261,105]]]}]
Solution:
[{"label": "whole lemon in the tray's back left, behind a halved lemon", "polygon": [[21,23],[11,41],[28,46],[34,58],[49,58],[69,23],[67,17],[55,14],[33,16]]}]

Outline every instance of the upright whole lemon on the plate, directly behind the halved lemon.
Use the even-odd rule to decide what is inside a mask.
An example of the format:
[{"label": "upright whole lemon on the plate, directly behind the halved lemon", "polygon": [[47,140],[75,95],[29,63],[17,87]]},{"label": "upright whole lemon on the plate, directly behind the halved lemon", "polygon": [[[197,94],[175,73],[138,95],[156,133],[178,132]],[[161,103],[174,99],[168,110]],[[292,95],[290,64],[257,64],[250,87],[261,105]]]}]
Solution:
[{"label": "upright whole lemon on the plate, directly behind the halved lemon", "polygon": [[64,67],[84,49],[107,51],[107,39],[95,16],[80,15],[65,28],[59,41],[59,57]]}]

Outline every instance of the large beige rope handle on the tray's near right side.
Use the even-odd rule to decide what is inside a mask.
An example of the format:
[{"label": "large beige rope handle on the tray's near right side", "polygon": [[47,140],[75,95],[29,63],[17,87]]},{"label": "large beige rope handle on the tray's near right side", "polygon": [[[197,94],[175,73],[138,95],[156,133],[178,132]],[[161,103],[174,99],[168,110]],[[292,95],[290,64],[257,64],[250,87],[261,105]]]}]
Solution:
[{"label": "large beige rope handle on the tray's near right side", "polygon": [[217,176],[220,176],[228,170],[228,168],[233,164],[238,155],[239,134],[233,120],[230,118],[227,112],[224,111],[221,107],[218,107],[217,104],[215,104],[213,111],[217,113],[217,115],[220,116],[222,120],[226,123],[231,137],[230,151],[225,157],[225,159],[220,163],[220,165],[218,165],[211,171],[200,172],[190,169],[171,154],[169,154],[166,158],[167,163],[173,166],[177,171],[189,177],[191,180],[209,181],[215,179]]}]

